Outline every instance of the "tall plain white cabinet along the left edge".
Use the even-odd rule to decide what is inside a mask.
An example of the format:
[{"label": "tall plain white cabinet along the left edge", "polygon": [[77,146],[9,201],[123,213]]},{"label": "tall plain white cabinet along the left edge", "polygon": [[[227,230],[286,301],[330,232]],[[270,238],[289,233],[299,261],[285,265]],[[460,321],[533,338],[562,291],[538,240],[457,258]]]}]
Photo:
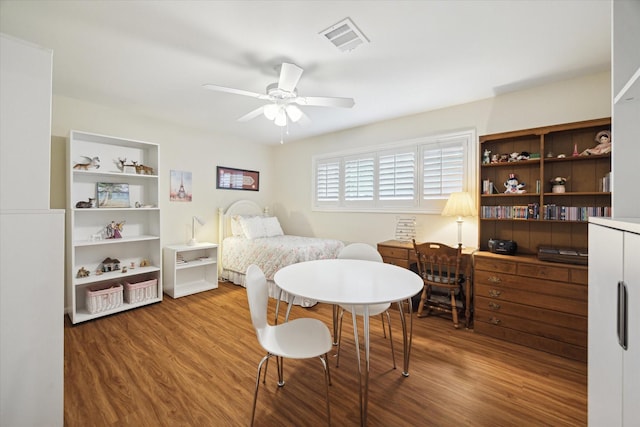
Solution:
[{"label": "tall plain white cabinet along the left edge", "polygon": [[49,209],[52,52],[0,34],[0,426],[64,423],[64,211]]}]

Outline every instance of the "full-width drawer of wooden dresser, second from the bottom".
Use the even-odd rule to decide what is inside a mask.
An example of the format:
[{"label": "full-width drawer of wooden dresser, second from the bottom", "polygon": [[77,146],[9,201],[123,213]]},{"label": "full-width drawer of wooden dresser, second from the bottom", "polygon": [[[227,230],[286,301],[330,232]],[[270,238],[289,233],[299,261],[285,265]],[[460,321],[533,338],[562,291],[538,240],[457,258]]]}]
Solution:
[{"label": "full-width drawer of wooden dresser, second from the bottom", "polygon": [[556,310],[547,310],[531,305],[514,303],[511,301],[496,300],[495,298],[476,297],[476,312],[482,311],[485,314],[493,313],[495,316],[511,315],[540,323],[550,323],[562,326],[563,328],[577,331],[587,331],[587,318],[577,314],[563,313]]}]

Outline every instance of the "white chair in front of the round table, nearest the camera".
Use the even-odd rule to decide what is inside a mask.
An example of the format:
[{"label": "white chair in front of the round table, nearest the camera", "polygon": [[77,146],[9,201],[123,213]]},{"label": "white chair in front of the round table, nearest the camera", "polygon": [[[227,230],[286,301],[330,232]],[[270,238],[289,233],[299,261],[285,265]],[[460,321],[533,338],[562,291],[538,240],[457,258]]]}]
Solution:
[{"label": "white chair in front of the round table, nearest the camera", "polygon": [[331,375],[327,363],[327,353],[331,350],[331,333],[329,328],[318,319],[295,319],[280,325],[269,325],[267,321],[267,308],[269,304],[269,292],[267,279],[260,268],[250,265],[246,274],[247,299],[251,321],[258,337],[258,342],[267,351],[267,355],[258,364],[256,376],[256,389],[253,397],[253,409],[251,412],[251,425],[256,414],[258,401],[258,388],[260,386],[260,373],[262,365],[267,362],[264,371],[263,383],[266,382],[269,358],[276,356],[278,363],[278,387],[284,386],[283,358],[309,359],[319,357],[324,368],[324,378],[327,395],[327,421],[331,425],[331,412],[329,409],[329,384]]}]

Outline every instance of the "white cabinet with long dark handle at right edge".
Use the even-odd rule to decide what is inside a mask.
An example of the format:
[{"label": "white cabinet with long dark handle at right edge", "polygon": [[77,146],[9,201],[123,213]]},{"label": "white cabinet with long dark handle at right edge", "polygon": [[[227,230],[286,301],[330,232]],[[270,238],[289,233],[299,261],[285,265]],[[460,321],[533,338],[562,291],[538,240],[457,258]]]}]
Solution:
[{"label": "white cabinet with long dark handle at right edge", "polygon": [[591,426],[640,419],[640,219],[589,224]]}]

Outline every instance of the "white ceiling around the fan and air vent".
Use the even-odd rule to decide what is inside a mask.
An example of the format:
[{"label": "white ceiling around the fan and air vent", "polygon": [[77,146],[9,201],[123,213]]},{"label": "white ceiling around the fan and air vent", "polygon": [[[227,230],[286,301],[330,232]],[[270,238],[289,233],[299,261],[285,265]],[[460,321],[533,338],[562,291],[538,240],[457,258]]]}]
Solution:
[{"label": "white ceiling around the fan and air vent", "polygon": [[[355,99],[304,107],[285,140],[608,70],[609,0],[1,0],[0,31],[54,51],[53,92],[265,144],[280,128],[237,118],[283,60],[298,93]],[[342,53],[318,33],[351,18],[370,39]]]}]

